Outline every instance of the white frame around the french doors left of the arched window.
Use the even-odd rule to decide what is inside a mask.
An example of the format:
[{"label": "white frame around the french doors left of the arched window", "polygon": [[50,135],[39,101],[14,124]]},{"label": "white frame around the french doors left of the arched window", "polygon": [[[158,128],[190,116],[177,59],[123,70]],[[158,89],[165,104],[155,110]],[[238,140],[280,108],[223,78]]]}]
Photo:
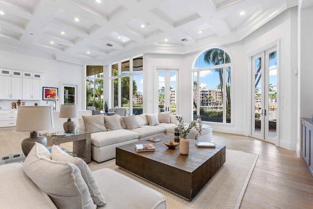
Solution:
[{"label": "white frame around the french doors left of the arched window", "polygon": [[176,99],[176,114],[179,114],[179,68],[175,67],[155,67],[155,83],[154,83],[154,113],[158,113],[158,71],[159,70],[177,70],[177,80],[176,80],[176,89],[177,89],[177,99]]}]

